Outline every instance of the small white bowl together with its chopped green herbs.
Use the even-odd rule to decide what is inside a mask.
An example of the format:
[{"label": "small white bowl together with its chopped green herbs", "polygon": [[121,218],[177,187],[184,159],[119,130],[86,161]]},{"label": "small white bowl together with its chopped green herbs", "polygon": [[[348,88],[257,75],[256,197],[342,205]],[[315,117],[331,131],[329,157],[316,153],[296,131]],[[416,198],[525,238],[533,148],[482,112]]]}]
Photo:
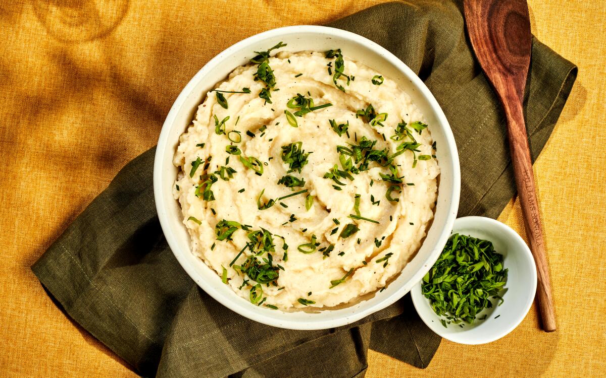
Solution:
[{"label": "small white bowl together with its chopped green herbs", "polygon": [[536,265],[524,239],[497,220],[462,217],[445,244],[410,290],[421,320],[460,344],[486,344],[510,333],[536,293]]}]

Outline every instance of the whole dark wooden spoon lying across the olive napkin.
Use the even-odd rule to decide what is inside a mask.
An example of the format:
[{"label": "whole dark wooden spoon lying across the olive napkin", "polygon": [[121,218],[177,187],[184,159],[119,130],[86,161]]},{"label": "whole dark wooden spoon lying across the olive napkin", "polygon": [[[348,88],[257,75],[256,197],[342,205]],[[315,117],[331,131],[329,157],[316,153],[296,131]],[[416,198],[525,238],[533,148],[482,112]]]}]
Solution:
[{"label": "whole dark wooden spoon lying across the olive napkin", "polygon": [[531,50],[528,4],[525,0],[465,0],[464,11],[473,50],[507,117],[518,198],[538,272],[537,296],[543,329],[555,331],[556,316],[522,109]]}]

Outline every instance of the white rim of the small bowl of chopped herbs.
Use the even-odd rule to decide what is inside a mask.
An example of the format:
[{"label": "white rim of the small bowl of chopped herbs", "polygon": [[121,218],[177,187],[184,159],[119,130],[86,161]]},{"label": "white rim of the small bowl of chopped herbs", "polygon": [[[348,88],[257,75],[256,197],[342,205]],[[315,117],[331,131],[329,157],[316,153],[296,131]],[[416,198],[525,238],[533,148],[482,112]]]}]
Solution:
[{"label": "white rim of the small bowl of chopped herbs", "polygon": [[[507,224],[505,224],[505,223],[502,223],[493,218],[479,217],[478,215],[469,215],[467,217],[456,218],[456,220],[454,221],[454,226],[453,226],[452,232],[456,232],[456,230],[458,228],[463,228],[463,227],[467,226],[468,224],[475,224],[477,228],[484,228],[484,229],[494,227],[494,228],[498,229],[500,232],[503,232],[507,236],[509,236],[511,238],[511,240],[515,240],[516,245],[519,244],[520,246],[522,246],[521,249],[516,248],[516,252],[523,253],[527,258],[529,258],[529,259],[525,259],[524,261],[530,261],[532,264],[533,269],[530,269],[531,276],[529,279],[529,281],[530,281],[530,290],[529,291],[531,293],[536,294],[536,285],[537,285],[536,264],[534,263],[534,256],[532,255],[532,252],[530,252],[530,248],[528,247],[528,244],[526,244],[526,242],[524,241],[522,236],[520,236],[519,233],[517,233],[511,227],[507,226]],[[450,237],[450,235],[449,235],[449,237]],[[509,241],[508,243],[513,243],[513,241]],[[441,252],[442,251],[440,251],[440,253]],[[444,331],[447,330],[447,328],[444,328],[444,327],[442,327],[442,325],[439,325],[439,323],[432,322],[431,319],[427,319],[426,317],[424,317],[423,314],[425,313],[425,311],[419,311],[418,305],[421,305],[421,302],[428,301],[428,299],[425,298],[421,294],[421,289],[420,289],[421,282],[422,281],[419,281],[415,285],[413,285],[413,288],[411,289],[411,293],[410,293],[410,295],[413,299],[413,305],[415,306],[415,310],[419,314],[419,318],[421,318],[421,320],[425,323],[425,325],[427,325],[427,327],[429,327],[435,333],[439,334],[439,336],[444,337],[444,339],[447,339],[452,342],[456,342],[458,344],[465,344],[465,345],[488,344],[489,342],[497,341],[498,339],[501,339],[502,337],[507,336],[507,334],[509,334],[511,331],[513,331],[516,327],[518,327],[518,325],[524,320],[524,318],[526,318],[526,315],[528,314],[528,311],[530,311],[530,307],[532,307],[532,304],[534,302],[534,297],[535,297],[535,295],[531,295],[530,297],[528,297],[529,298],[528,301],[524,304],[524,310],[520,311],[520,313],[515,318],[515,320],[513,322],[510,322],[507,325],[507,327],[497,328],[496,331],[494,332],[494,334],[491,334],[489,337],[485,337],[483,339],[471,339],[469,337],[464,336],[466,333],[466,330],[454,333],[454,335],[456,335],[456,336],[453,337],[452,333],[444,333]],[[432,317],[432,319],[441,319],[435,313],[431,313],[431,317]],[[490,319],[492,319],[492,318],[490,318]],[[487,319],[487,320],[489,320],[489,319]],[[472,328],[468,328],[468,329],[471,330]]]}]

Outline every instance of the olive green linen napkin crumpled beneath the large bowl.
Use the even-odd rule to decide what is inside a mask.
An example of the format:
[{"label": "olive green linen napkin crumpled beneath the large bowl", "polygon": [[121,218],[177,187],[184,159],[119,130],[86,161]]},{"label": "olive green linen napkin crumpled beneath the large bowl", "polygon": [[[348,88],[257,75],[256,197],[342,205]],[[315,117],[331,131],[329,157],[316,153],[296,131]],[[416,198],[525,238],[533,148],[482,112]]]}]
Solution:
[{"label": "olive green linen napkin crumpled beneath the large bowl", "polygon": [[[459,216],[498,216],[514,195],[505,124],[470,51],[461,4],[388,3],[331,26],[381,44],[419,74],[458,144]],[[525,96],[533,158],[575,78],[573,64],[534,39]],[[162,235],[152,189],[154,152],[128,163],[32,267],[68,316],[137,373],[363,377],[368,348],[427,366],[440,338],[419,321],[409,296],[353,325],[318,331],[262,325],[210,298],[182,270]]]}]

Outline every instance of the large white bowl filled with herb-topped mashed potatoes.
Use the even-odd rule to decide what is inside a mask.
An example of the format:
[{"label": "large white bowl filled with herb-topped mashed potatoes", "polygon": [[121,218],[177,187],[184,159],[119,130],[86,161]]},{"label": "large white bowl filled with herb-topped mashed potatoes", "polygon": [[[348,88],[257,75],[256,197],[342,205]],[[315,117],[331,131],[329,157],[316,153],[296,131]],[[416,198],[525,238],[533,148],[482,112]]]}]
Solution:
[{"label": "large white bowl filled with herb-topped mashed potatoes", "polygon": [[450,235],[444,113],[393,54],[295,26],[210,60],[171,108],[154,191],[169,246],[221,304],[276,327],[345,325],[407,293]]}]

